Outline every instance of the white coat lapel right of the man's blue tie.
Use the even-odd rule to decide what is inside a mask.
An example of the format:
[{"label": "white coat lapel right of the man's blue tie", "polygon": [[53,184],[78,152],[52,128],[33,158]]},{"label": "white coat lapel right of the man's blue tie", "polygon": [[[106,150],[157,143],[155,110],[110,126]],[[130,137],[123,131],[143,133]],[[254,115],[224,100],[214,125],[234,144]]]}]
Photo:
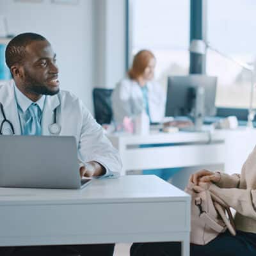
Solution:
[{"label": "white coat lapel right of the man's blue tie", "polygon": [[46,96],[44,111],[42,113],[42,135],[52,135],[49,131],[49,125],[54,122],[54,109],[60,105],[58,95]]}]

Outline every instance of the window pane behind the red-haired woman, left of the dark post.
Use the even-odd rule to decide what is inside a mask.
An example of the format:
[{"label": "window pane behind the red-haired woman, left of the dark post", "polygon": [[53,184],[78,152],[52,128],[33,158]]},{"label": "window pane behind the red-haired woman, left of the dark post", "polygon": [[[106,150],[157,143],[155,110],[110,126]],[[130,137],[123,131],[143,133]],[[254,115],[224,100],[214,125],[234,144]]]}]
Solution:
[{"label": "window pane behind the red-haired woman, left of the dark post", "polygon": [[156,79],[189,72],[189,0],[131,1],[132,56],[148,49],[157,59]]}]

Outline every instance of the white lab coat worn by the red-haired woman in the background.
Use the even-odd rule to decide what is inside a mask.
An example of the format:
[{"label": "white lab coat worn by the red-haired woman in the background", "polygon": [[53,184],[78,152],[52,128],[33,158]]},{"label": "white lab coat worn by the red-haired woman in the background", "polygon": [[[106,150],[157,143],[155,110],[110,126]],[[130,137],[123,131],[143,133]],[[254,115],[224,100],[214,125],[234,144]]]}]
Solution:
[{"label": "white lab coat worn by the red-haired woman in the background", "polygon": [[[166,97],[160,84],[155,81],[147,83],[148,109],[151,122],[162,122]],[[126,78],[116,85],[112,94],[113,118],[122,123],[125,116],[136,117],[143,111],[143,93],[138,82]]]}]

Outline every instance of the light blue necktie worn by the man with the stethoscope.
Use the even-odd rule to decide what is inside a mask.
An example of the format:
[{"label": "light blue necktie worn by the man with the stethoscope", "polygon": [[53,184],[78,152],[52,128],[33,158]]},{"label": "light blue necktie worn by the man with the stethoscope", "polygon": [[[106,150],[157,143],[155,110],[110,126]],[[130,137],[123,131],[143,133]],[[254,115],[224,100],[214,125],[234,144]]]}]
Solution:
[{"label": "light blue necktie worn by the man with the stethoscope", "polygon": [[40,115],[41,109],[36,103],[32,103],[26,110],[26,124],[24,135],[41,135]]}]

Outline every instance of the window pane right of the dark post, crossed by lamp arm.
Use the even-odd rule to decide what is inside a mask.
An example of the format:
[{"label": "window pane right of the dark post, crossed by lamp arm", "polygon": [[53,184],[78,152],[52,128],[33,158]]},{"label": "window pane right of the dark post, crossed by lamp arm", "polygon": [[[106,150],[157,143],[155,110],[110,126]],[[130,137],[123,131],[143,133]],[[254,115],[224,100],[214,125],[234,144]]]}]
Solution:
[{"label": "window pane right of the dark post, crossed by lamp arm", "polygon": [[[209,43],[236,60],[254,63],[256,57],[255,0],[208,0],[207,3]],[[218,77],[216,106],[248,108],[250,71],[244,70],[211,50],[207,51],[206,68],[208,75]],[[254,107],[256,107],[255,98],[253,99]]]}]

